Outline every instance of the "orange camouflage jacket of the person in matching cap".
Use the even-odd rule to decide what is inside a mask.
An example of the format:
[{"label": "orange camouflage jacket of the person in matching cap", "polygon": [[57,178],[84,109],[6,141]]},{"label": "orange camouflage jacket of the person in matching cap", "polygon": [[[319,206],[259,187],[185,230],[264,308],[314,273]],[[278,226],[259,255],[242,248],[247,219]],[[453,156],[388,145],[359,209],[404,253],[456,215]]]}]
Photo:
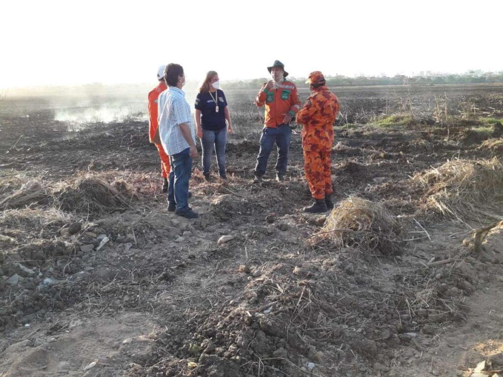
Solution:
[{"label": "orange camouflage jacket of the person in matching cap", "polygon": [[328,87],[313,90],[306,104],[297,114],[297,123],[302,124],[302,148],[304,151],[331,150],[333,122],[339,113],[339,100]]}]

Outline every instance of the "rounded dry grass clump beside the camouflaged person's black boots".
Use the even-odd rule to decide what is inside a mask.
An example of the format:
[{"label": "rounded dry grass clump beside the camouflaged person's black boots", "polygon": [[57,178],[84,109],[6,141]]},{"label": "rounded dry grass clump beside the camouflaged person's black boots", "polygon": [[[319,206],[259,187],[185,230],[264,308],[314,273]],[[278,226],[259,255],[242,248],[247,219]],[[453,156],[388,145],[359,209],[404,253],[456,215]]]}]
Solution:
[{"label": "rounded dry grass clump beside the camouflaged person's black boots", "polygon": [[332,210],[317,237],[341,247],[357,244],[363,250],[392,255],[401,251],[402,231],[401,224],[382,204],[350,197]]}]

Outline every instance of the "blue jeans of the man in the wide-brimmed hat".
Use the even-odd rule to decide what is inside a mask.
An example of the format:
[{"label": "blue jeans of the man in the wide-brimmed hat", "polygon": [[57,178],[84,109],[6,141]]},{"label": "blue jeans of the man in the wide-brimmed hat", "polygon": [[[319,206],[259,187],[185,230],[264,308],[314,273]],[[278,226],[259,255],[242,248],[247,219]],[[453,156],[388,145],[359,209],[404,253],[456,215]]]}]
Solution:
[{"label": "blue jeans of the man in the wide-brimmed hat", "polygon": [[287,124],[279,125],[278,128],[264,127],[260,138],[260,151],[255,166],[255,175],[262,176],[266,173],[267,160],[273,150],[274,142],[276,142],[276,148],[278,149],[276,172],[285,174],[291,138],[292,128]]}]

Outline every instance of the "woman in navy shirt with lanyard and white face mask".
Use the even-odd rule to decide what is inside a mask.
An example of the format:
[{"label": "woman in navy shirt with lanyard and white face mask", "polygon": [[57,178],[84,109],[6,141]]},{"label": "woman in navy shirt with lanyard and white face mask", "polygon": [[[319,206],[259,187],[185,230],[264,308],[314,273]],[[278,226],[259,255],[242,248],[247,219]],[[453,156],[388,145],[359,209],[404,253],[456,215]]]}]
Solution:
[{"label": "woman in navy shirt with lanyard and white face mask", "polygon": [[[225,124],[227,121],[227,124]],[[217,157],[218,174],[226,179],[225,173],[225,144],[227,132],[232,132],[227,100],[219,89],[218,73],[209,71],[199,88],[196,98],[196,126],[197,136],[201,138],[203,146],[203,174],[210,180],[210,162],[213,148]]]}]

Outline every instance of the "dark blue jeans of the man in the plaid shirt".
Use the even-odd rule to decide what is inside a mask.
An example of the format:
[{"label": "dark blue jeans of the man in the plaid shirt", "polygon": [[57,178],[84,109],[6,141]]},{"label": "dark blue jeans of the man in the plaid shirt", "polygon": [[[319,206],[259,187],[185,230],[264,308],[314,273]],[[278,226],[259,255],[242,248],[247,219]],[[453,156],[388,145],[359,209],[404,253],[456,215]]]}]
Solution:
[{"label": "dark blue jeans of the man in the plaid shirt", "polygon": [[189,180],[192,175],[190,148],[170,155],[170,179],[167,186],[167,201],[177,206],[176,213],[189,210]]}]

